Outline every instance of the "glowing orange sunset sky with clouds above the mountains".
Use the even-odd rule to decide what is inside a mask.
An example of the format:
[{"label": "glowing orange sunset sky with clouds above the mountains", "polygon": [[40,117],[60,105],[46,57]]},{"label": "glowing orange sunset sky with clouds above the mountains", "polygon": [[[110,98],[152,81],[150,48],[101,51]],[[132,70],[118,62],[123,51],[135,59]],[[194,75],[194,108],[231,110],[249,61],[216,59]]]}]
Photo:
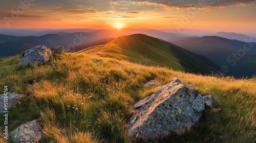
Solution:
[{"label": "glowing orange sunset sky with clouds above the mountains", "polygon": [[0,28],[105,29],[120,23],[129,28],[256,33],[256,0],[27,2],[0,0]]}]

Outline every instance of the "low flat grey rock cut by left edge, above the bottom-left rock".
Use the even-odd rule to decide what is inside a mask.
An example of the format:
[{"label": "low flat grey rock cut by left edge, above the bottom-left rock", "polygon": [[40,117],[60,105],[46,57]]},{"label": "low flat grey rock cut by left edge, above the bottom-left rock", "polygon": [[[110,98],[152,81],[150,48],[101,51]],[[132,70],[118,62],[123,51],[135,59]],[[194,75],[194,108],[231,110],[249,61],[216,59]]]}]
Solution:
[{"label": "low flat grey rock cut by left edge, above the bottom-left rock", "polygon": [[[15,105],[16,103],[18,103],[23,97],[25,97],[26,95],[24,94],[18,94],[16,92],[9,92],[8,93],[8,107],[11,107],[13,105]],[[5,94],[0,94],[0,113],[4,113],[5,107],[3,106],[5,103]]]}]

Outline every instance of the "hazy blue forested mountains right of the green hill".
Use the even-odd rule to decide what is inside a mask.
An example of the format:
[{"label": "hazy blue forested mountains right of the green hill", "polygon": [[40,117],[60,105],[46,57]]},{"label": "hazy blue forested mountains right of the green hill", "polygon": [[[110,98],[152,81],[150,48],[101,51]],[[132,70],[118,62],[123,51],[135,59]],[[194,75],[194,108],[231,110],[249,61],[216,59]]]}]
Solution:
[{"label": "hazy blue forested mountains right of the green hill", "polygon": [[[251,77],[256,71],[256,43],[230,40],[218,36],[170,39],[178,46],[214,61],[234,77]],[[248,49],[248,50],[247,50]]]}]

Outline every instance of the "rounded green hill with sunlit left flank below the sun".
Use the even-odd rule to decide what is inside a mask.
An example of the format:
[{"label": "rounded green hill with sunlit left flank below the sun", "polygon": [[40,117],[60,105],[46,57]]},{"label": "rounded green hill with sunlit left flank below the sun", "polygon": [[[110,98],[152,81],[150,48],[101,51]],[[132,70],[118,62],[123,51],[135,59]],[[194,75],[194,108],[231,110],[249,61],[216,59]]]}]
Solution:
[{"label": "rounded green hill with sunlit left flank below the sun", "polygon": [[121,36],[105,45],[96,45],[77,53],[91,53],[144,65],[166,66],[189,73],[210,74],[219,68],[203,56],[143,34]]}]

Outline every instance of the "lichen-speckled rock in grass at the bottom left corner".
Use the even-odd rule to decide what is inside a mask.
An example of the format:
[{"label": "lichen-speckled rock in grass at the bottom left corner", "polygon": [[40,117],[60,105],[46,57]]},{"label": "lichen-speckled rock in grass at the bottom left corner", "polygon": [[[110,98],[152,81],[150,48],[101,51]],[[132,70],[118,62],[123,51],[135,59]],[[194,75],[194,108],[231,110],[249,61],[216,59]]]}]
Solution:
[{"label": "lichen-speckled rock in grass at the bottom left corner", "polygon": [[41,139],[41,125],[39,120],[33,120],[22,124],[11,132],[14,143],[18,142],[39,142]]}]

